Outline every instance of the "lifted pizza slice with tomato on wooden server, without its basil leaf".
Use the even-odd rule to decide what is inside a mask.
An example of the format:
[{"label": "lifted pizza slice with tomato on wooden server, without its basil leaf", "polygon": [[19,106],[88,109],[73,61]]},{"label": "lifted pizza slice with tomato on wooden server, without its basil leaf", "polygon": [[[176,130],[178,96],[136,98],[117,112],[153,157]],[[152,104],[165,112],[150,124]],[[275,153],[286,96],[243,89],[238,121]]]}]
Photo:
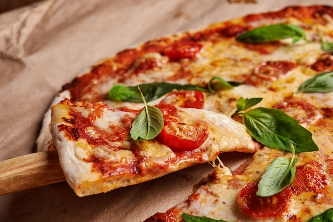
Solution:
[{"label": "lifted pizza slice with tomato on wooden server, without its basil leaf", "polygon": [[52,106],[53,142],[78,196],[158,178],[213,161],[223,152],[254,153],[259,147],[244,125],[226,115],[164,102],[155,107],[163,116],[161,132],[134,140],[130,130],[140,110],[68,99]]}]

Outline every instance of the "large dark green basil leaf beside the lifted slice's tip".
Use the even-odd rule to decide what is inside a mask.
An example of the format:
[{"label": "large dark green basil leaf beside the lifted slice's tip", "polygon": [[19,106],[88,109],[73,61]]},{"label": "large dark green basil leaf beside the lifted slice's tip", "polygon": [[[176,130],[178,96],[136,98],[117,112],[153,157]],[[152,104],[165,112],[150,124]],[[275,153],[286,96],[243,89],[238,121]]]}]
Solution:
[{"label": "large dark green basil leaf beside the lifted slice's tip", "polygon": [[312,133],[282,110],[259,107],[241,114],[250,135],[265,146],[291,152],[291,142],[297,154],[318,151]]}]

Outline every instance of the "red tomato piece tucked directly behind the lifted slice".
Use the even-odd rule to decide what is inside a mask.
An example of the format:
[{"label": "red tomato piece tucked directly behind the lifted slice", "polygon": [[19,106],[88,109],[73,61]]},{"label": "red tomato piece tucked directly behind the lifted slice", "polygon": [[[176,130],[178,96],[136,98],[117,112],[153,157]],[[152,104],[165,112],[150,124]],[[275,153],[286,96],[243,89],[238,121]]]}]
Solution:
[{"label": "red tomato piece tucked directly behind the lifted slice", "polygon": [[184,108],[203,109],[205,100],[203,94],[198,91],[174,91],[169,93],[161,103]]}]

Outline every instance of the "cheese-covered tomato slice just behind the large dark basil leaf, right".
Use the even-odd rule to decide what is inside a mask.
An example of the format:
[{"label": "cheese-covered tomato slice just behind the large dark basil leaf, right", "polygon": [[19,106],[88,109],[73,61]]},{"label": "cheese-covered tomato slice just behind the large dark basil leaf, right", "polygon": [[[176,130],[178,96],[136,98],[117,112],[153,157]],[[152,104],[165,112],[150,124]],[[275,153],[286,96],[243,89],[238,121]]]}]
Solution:
[{"label": "cheese-covered tomato slice just behind the large dark basil leaf, right", "polygon": [[315,122],[322,117],[315,106],[294,97],[286,97],[283,101],[276,103],[273,108],[285,111],[302,125]]}]

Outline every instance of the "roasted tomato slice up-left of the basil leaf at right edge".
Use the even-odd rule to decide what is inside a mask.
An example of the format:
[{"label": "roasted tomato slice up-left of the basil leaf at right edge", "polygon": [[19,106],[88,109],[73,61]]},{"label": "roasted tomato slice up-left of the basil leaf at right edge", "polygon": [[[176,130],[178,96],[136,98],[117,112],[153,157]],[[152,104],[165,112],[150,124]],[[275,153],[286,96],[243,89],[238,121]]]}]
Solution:
[{"label": "roasted tomato slice up-left of the basil leaf at right edge", "polygon": [[265,61],[253,69],[253,75],[245,81],[245,84],[260,86],[264,81],[271,82],[285,76],[289,71],[296,68],[291,61]]}]

